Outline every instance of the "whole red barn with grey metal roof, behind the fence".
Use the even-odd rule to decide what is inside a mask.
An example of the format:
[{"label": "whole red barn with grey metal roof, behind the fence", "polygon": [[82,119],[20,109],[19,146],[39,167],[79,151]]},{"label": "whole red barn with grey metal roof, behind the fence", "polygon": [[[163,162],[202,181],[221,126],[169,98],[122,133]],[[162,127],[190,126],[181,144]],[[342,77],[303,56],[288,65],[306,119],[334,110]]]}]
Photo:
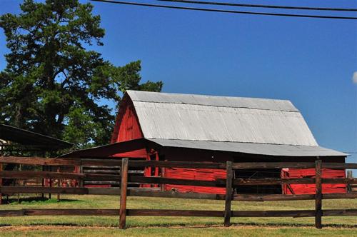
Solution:
[{"label": "whole red barn with grey metal roof, behind the fence", "polygon": [[[345,162],[346,153],[318,146],[291,101],[193,94],[126,91],[111,144],[66,156],[129,157],[201,162]],[[215,180],[216,169],[145,168],[144,176]],[[313,169],[243,170],[235,178],[308,178]],[[323,178],[345,178],[323,168]],[[149,185],[148,185],[149,186]],[[146,186],[146,187],[148,187]],[[154,187],[154,186],[151,186]],[[157,187],[157,186],[156,186]],[[164,185],[166,191],[225,193],[224,188]],[[314,193],[314,184],[241,186],[238,193]],[[323,184],[323,193],[344,193],[346,185]]]}]

